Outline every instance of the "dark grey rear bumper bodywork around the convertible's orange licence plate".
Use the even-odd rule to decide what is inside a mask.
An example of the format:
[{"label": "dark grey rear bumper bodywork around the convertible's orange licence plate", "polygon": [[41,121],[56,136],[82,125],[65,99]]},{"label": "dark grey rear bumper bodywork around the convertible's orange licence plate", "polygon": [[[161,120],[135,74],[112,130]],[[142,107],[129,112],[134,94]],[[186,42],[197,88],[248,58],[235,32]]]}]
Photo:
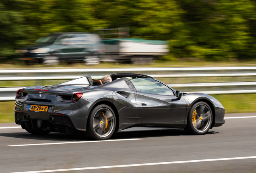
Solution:
[{"label": "dark grey rear bumper bodywork around the convertible's orange licence plate", "polygon": [[[29,119],[34,121],[42,120],[44,124],[58,124],[58,125],[68,125],[79,131],[86,131],[87,119],[91,108],[93,107],[93,102],[84,99],[83,97],[76,103],[68,103],[59,101],[56,95],[42,94],[43,101],[31,101],[30,99],[39,97],[39,94],[29,93],[26,97],[15,99],[15,122],[19,125],[21,123],[26,123],[23,115],[27,114]],[[48,102],[45,100],[48,99]],[[48,106],[47,112],[39,111],[29,111],[30,105],[42,105]],[[50,122],[49,117],[54,117],[55,121]],[[29,122],[27,122],[29,123]],[[48,125],[48,127],[50,127]]]}]

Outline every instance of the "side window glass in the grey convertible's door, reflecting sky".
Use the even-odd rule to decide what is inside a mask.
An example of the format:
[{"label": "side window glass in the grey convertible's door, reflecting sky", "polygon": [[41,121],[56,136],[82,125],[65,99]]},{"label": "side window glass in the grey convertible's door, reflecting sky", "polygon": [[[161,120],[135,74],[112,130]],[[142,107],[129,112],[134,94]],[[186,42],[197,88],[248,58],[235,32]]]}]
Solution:
[{"label": "side window glass in the grey convertible's door, reflecting sky", "polygon": [[164,84],[151,78],[134,78],[130,80],[137,91],[158,95],[174,95]]}]

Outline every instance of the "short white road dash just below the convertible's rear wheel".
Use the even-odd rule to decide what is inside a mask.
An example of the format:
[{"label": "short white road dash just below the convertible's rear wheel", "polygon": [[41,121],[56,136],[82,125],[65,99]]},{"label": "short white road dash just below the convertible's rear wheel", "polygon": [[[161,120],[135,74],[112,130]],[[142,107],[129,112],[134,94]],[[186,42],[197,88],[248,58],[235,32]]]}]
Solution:
[{"label": "short white road dash just below the convertible's rear wheel", "polygon": [[113,141],[134,141],[134,140],[142,140],[142,139],[113,139],[113,140],[105,140],[105,141],[76,141],[76,142],[62,142],[62,143],[39,143],[39,144],[22,144],[22,145],[8,145],[10,147],[21,147],[21,146],[32,146],[32,145],[56,145],[56,144],[71,144],[71,143],[95,143],[95,142],[113,142]]}]

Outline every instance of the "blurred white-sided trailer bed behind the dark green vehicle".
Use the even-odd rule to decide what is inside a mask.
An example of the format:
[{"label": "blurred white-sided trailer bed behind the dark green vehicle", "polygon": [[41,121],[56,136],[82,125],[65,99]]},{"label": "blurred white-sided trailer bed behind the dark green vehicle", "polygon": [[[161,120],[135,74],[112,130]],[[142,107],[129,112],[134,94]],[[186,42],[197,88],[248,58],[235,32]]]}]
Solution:
[{"label": "blurred white-sided trailer bed behind the dark green vehicle", "polygon": [[168,41],[124,38],[103,40],[106,56],[101,61],[150,63],[153,59],[169,53]]}]

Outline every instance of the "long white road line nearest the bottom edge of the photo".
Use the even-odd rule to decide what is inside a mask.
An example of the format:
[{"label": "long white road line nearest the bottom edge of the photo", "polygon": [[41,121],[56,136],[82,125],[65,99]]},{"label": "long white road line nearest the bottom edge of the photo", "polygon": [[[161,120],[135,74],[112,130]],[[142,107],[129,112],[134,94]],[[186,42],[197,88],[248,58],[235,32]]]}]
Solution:
[{"label": "long white road line nearest the bottom edge of the photo", "polygon": [[89,170],[89,169],[107,169],[107,168],[136,167],[136,166],[150,166],[150,165],[168,165],[168,164],[176,164],[176,163],[194,163],[194,162],[206,162],[206,161],[239,160],[239,159],[256,159],[256,156],[231,157],[231,158],[220,158],[220,159],[202,159],[202,160],[189,160],[189,161],[157,162],[157,163],[141,163],[141,164],[131,164],[131,165],[83,167],[83,168],[70,168],[70,169],[52,169],[52,170],[43,170],[43,171],[26,171],[26,172],[15,172],[15,173],[47,173],[47,172],[78,171],[78,170]]}]

